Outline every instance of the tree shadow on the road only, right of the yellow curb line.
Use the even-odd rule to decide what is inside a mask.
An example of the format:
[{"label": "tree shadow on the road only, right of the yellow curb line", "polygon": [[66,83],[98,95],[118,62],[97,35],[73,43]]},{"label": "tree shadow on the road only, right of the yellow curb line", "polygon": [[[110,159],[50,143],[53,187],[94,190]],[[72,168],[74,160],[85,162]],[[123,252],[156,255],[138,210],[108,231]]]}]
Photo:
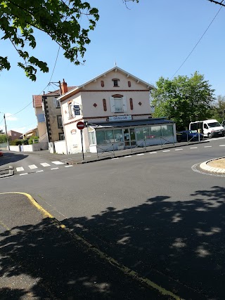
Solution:
[{"label": "tree shadow on the road only, right of the yellow curb line", "polygon": [[196,190],[191,200],[153,197],[63,223],[184,299],[224,299],[224,195],[214,186]]}]

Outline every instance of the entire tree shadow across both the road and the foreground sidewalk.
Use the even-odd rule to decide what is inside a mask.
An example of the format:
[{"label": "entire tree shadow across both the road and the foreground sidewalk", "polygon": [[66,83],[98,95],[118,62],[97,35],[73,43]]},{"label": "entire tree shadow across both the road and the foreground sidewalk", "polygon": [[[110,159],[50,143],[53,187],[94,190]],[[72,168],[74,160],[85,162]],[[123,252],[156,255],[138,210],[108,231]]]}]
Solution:
[{"label": "entire tree shadow across both the road and the foreground sidewalk", "polygon": [[[184,299],[224,299],[224,195],[225,188],[214,186],[195,191],[190,200],[158,196],[63,223]],[[141,287],[122,282],[113,266],[72,242],[50,219],[1,233],[0,254],[0,278],[38,278],[31,291],[41,299],[146,299]]]}]

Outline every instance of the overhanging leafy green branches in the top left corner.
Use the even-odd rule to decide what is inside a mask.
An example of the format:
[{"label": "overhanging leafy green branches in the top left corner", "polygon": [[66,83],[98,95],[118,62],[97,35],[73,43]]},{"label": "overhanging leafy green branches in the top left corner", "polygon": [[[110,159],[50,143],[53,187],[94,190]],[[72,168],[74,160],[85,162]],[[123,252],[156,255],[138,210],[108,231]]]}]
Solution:
[{"label": "overhanging leafy green branches in the top left corner", "polygon": [[[139,0],[122,0],[127,1]],[[80,25],[86,15],[84,27]],[[46,63],[30,56],[29,46],[36,47],[34,29],[41,30],[56,41],[64,50],[65,58],[75,65],[84,63],[85,45],[90,43],[89,31],[94,30],[98,21],[98,9],[82,0],[2,0],[0,1],[1,39],[11,41],[22,62],[18,66],[25,70],[27,77],[36,80],[37,68],[49,72]],[[0,71],[11,67],[8,57],[0,56]]]}]

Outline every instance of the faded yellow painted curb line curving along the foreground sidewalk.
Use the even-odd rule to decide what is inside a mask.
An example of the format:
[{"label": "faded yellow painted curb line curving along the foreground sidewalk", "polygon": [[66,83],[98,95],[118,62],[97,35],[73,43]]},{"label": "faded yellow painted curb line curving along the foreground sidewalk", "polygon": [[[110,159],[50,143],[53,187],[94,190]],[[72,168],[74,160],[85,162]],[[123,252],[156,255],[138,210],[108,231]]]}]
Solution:
[{"label": "faded yellow painted curb line curving along the foreground sidewalk", "polygon": [[20,194],[20,195],[25,195],[30,200],[30,202],[34,205],[34,207],[36,207],[39,211],[41,211],[41,214],[44,216],[44,218],[50,218],[50,219],[53,219],[54,221],[56,221],[58,223],[58,226],[60,228],[63,228],[68,233],[70,233],[70,235],[73,235],[74,237],[76,237],[77,240],[81,241],[83,244],[85,244],[86,246],[88,246],[89,249],[91,249],[92,251],[96,252],[96,254],[98,254],[98,256],[100,256],[101,258],[105,259],[106,261],[108,261],[109,263],[111,263],[113,266],[115,266],[116,268],[118,268],[119,270],[121,270],[122,273],[124,273],[125,275],[128,275],[129,277],[133,278],[134,280],[137,280],[137,281],[139,281],[139,282],[141,282],[141,283],[143,283],[145,285],[148,285],[148,287],[152,287],[153,289],[157,289],[158,292],[160,292],[160,294],[162,294],[162,295],[172,296],[176,300],[182,300],[176,294],[174,294],[174,293],[172,293],[170,291],[167,291],[167,289],[164,289],[163,287],[160,287],[160,285],[157,285],[155,282],[149,280],[148,278],[141,277],[134,270],[131,270],[130,268],[122,265],[121,263],[119,263],[118,261],[116,261],[115,259],[113,259],[113,257],[108,256],[107,254],[105,254],[104,252],[102,252],[100,249],[96,248],[94,245],[92,245],[91,243],[89,243],[88,241],[86,241],[83,237],[80,237],[79,235],[77,235],[77,233],[72,233],[72,231],[70,230],[70,228],[67,228],[65,225],[61,224],[60,221],[58,221],[53,215],[49,214],[49,212],[46,211],[43,207],[41,207],[41,205],[38,204],[37,201],[35,201],[34,198],[30,194],[20,193],[20,192],[18,192],[18,193],[17,192],[0,193],[0,195],[5,195],[5,194]]}]

